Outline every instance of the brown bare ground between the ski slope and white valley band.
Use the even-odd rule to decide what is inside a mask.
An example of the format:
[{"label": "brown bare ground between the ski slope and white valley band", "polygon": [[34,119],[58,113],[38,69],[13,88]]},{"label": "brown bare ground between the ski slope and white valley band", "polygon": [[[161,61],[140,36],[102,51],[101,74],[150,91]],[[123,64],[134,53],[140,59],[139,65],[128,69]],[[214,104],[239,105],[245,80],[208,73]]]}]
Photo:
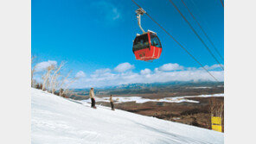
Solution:
[{"label": "brown bare ground between the ski slope and white valley band", "polygon": [[[200,103],[129,102],[115,103],[115,108],[144,116],[154,116],[172,122],[181,122],[210,129],[211,122],[208,101],[211,98],[224,101],[224,97],[191,97],[188,99],[199,101]],[[101,104],[110,107],[110,103]]]}]

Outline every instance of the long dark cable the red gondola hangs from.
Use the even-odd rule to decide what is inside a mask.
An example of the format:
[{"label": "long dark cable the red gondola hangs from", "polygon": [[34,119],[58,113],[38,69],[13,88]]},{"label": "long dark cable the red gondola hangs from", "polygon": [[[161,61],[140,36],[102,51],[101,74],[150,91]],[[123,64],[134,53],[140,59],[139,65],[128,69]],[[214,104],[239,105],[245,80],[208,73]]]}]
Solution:
[{"label": "long dark cable the red gondola hangs from", "polygon": [[[138,3],[136,3],[134,0],[131,0],[131,1],[132,1],[133,3],[135,3],[135,4],[138,6],[138,8],[141,8],[141,7],[138,5]],[[141,8],[141,9],[142,9],[142,8]],[[175,39],[168,31],[166,31],[157,21],[155,21],[147,12],[146,12],[145,14],[146,14],[147,16],[149,16],[150,19],[158,25],[158,27],[162,28],[163,31],[164,31],[166,34],[168,34],[168,35],[170,36],[170,38],[172,38],[173,41],[176,41],[176,39]],[[206,69],[204,66],[202,66],[202,64],[201,64],[197,59],[195,59],[195,57],[194,57],[191,53],[189,53],[189,51],[188,51],[185,47],[183,47],[182,44],[181,44],[179,41],[176,41],[176,43],[177,43],[180,47],[182,47],[182,49],[183,49],[186,53],[188,53],[189,56],[190,56],[192,59],[194,59],[195,62],[197,62],[197,64],[199,64],[206,72],[208,72],[208,74],[209,74],[212,78],[214,78],[215,81],[219,82],[219,80],[218,80],[217,78],[215,78],[214,75],[212,75],[212,73],[208,71],[208,69]]]}]

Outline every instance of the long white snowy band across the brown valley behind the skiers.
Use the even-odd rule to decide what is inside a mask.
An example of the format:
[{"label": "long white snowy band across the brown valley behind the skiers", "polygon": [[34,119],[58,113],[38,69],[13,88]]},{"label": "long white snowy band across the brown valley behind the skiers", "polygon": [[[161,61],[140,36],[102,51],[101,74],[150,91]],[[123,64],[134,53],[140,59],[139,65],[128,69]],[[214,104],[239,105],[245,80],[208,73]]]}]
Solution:
[{"label": "long white snowy band across the brown valley behind the skiers", "polygon": [[[146,103],[146,102],[165,102],[165,103],[199,103],[195,100],[189,100],[186,98],[189,97],[224,97],[223,93],[213,94],[213,95],[199,95],[199,96],[182,96],[182,97],[165,97],[161,99],[149,99],[143,97],[112,97],[115,103],[127,103],[127,102],[135,102],[135,103]],[[109,97],[95,97],[96,102],[109,102]],[[91,99],[82,100],[81,103],[91,103]]]}]

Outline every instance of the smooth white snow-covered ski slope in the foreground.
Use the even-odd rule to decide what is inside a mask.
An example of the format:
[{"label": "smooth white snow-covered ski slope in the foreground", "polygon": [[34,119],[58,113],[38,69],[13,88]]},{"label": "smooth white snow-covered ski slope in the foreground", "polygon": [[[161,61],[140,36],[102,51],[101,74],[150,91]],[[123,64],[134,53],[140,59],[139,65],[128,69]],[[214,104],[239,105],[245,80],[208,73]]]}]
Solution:
[{"label": "smooth white snow-covered ski slope in the foreground", "polygon": [[213,130],[31,91],[32,144],[224,143]]}]

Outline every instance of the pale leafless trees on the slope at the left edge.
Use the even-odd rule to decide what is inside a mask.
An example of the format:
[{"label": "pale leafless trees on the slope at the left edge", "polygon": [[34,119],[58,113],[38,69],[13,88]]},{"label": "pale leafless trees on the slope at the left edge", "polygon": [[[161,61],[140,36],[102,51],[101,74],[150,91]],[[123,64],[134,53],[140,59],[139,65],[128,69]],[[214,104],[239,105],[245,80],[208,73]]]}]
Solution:
[{"label": "pale leafless trees on the slope at the left edge", "polygon": [[[63,68],[67,66],[66,62],[62,61],[59,65],[51,64],[45,67],[41,72],[37,71],[38,63],[35,63],[35,57],[31,59],[31,87],[48,91],[61,97],[71,95],[72,91],[68,86],[72,85],[77,78],[71,78],[70,72],[63,72]],[[40,81],[35,80],[35,74],[41,77]]]}]

